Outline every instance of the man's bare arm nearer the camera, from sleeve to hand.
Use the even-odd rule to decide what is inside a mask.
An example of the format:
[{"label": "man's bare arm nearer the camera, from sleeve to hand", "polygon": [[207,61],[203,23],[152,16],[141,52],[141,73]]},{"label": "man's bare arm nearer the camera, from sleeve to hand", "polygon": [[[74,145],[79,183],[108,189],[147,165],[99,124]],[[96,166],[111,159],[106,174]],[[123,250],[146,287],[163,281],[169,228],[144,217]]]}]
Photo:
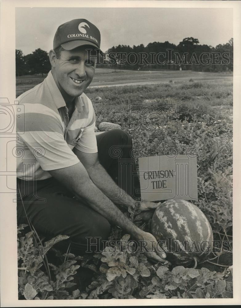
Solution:
[{"label": "man's bare arm nearer the camera, from sleeve to hand", "polygon": [[[146,255],[154,261],[165,262],[165,253],[151,233],[139,229],[133,224],[104,193],[92,182],[88,172],[81,162],[70,167],[50,170],[50,174],[72,191],[76,197],[84,198],[88,205],[104,216],[110,224],[120,226],[137,241],[145,241]],[[66,204],[66,207],[68,205]]]}]

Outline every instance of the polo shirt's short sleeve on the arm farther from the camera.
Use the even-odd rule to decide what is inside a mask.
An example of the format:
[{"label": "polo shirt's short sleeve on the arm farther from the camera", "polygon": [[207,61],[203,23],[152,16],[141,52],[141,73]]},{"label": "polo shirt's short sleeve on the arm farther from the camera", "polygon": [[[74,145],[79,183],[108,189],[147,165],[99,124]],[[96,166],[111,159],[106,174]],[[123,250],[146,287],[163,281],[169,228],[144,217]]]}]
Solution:
[{"label": "polo shirt's short sleeve on the arm farther from the camera", "polygon": [[86,128],[84,128],[80,136],[80,140],[75,145],[75,148],[77,150],[84,152],[84,153],[97,153],[98,152],[97,141],[96,141],[96,136],[94,132],[96,116],[95,116],[94,108],[92,104],[91,104],[91,113],[92,113],[92,116],[90,117],[91,121],[86,126]]}]

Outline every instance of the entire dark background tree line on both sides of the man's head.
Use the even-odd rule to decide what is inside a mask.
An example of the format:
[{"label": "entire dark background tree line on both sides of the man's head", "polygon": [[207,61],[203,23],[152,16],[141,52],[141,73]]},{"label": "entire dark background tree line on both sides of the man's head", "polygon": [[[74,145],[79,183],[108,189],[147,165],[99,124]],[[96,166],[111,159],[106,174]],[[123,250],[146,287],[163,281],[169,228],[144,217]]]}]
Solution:
[{"label": "entire dark background tree line on both sides of the man's head", "polygon": [[[183,39],[178,45],[169,43],[168,41],[164,43],[149,43],[146,47],[143,44],[138,46],[134,45],[133,47],[129,45],[118,45],[109,48],[106,54],[111,55],[112,58],[104,55],[99,60],[97,67],[134,70],[183,69],[195,71],[233,71],[232,38],[228,43],[223,45],[219,44],[216,47],[205,44],[200,45],[199,40],[193,37]],[[127,54],[127,57],[120,56],[120,54]],[[133,59],[135,60],[135,55],[140,56],[141,54],[147,54],[147,56],[144,56],[145,59],[143,61],[133,61]],[[165,58],[164,54],[166,54],[167,58],[165,61],[163,61]],[[226,60],[224,61],[223,59],[223,61],[218,62],[218,58],[220,60],[220,57],[222,58],[224,54],[226,54]],[[22,50],[16,49],[15,55],[16,76],[33,74],[42,74],[43,76],[43,74],[48,73],[51,69],[48,53],[40,48],[28,55],[23,55]],[[130,55],[129,61],[128,55]],[[154,55],[158,55],[158,57]],[[208,63],[207,60],[210,55],[212,59]],[[215,61],[215,57],[217,61]],[[203,63],[204,61],[205,63]]]}]

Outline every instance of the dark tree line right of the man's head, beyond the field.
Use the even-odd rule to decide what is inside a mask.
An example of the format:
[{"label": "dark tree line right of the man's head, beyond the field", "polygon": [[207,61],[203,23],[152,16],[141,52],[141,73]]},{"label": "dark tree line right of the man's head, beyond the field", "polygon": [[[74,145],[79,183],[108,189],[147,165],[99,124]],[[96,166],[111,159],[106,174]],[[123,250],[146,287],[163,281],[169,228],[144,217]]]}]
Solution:
[{"label": "dark tree line right of the man's head, beyond the field", "polygon": [[[127,57],[123,56],[124,53]],[[168,41],[149,43],[146,47],[143,44],[133,47],[118,45],[108,49],[107,54],[111,56],[115,68],[233,71],[232,38],[228,43],[216,47],[201,45],[193,37],[183,39],[178,45]],[[112,56],[114,54],[115,57]],[[136,55],[139,55],[138,59]],[[112,61],[114,58],[116,61]]]}]

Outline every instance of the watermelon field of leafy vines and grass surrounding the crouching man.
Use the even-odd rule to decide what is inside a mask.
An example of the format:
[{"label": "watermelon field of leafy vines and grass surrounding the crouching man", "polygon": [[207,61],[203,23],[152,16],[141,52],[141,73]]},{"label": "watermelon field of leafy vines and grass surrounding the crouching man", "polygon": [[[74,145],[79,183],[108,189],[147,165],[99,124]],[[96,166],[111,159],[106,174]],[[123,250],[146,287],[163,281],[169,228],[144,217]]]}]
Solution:
[{"label": "watermelon field of leafy vines and grass surrounding the crouching man", "polygon": [[[41,81],[39,77],[18,78],[17,94]],[[126,83],[129,85],[125,86]],[[112,84],[119,86],[103,87]],[[188,147],[197,149],[199,200],[194,203],[209,220],[219,250],[195,269],[168,268],[152,264],[143,254],[127,252],[118,244],[114,251],[105,250],[93,257],[69,252],[61,255],[53,245],[64,237],[38,248],[34,244],[36,234],[26,234],[24,226],[19,226],[19,298],[232,298],[232,75],[100,69],[91,86],[86,94],[94,106],[96,126],[103,121],[121,125],[132,136],[134,147],[143,150],[143,156],[163,155],[170,145],[179,154],[185,154]],[[102,99],[98,101],[96,97]],[[174,120],[168,122],[165,133],[156,136],[155,129],[160,126],[158,116],[149,119],[147,128],[152,133],[147,133],[139,118],[129,114],[129,105],[134,100],[143,102],[146,98],[177,104],[176,134]],[[150,232],[148,222],[140,223],[138,209],[130,209],[126,215]],[[109,239],[121,238],[129,243],[128,235],[113,227]]]}]

